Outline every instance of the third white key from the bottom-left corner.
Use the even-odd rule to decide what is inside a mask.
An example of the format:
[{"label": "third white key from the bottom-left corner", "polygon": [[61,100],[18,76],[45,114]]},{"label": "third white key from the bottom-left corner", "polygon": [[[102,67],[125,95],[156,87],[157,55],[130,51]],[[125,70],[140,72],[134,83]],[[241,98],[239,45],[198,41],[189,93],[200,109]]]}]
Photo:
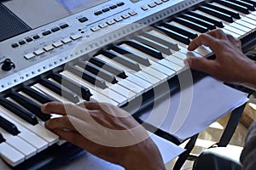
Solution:
[{"label": "third white key from the bottom-left corner", "polygon": [[[6,114],[3,114],[6,113]],[[15,124],[15,126],[19,129],[20,133],[18,136],[20,139],[25,140],[28,144],[32,144],[33,147],[35,147],[38,152],[46,149],[48,147],[48,143],[44,140],[38,137],[35,133],[32,133],[26,127],[21,126],[18,122],[15,122],[15,120],[11,119],[9,116],[10,111],[4,109],[3,107],[0,107],[0,115],[3,116],[6,120],[9,122],[12,122]]]}]

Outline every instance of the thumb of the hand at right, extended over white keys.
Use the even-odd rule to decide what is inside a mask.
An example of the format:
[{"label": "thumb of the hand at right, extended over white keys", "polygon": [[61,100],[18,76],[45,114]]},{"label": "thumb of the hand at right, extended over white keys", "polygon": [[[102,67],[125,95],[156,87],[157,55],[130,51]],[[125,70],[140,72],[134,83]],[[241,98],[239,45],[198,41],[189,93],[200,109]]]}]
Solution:
[{"label": "thumb of the hand at right, extended over white keys", "polygon": [[205,58],[189,58],[185,62],[191,69],[211,74],[214,68],[214,60]]}]

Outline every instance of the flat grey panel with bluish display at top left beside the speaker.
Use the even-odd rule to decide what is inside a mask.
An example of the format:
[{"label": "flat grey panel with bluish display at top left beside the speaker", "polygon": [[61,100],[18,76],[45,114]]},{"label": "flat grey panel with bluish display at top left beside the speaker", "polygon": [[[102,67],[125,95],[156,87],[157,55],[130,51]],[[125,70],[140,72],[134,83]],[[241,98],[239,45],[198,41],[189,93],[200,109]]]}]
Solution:
[{"label": "flat grey panel with bluish display at top left beside the speaker", "polygon": [[3,5],[32,29],[108,0],[9,0]]}]

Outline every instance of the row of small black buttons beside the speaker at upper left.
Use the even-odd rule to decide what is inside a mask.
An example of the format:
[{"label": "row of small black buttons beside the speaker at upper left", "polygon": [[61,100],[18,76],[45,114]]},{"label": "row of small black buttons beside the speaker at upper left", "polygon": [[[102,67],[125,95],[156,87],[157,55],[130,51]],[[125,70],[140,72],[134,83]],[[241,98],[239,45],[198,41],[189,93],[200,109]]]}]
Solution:
[{"label": "row of small black buttons beside the speaker at upper left", "polygon": [[[51,34],[52,32],[60,31],[61,29],[64,29],[64,28],[67,28],[67,27],[68,27],[67,24],[63,24],[63,25],[61,25],[60,27],[55,27],[55,28],[51,29],[51,31],[44,31],[44,32],[42,32],[42,35],[43,35],[43,36],[48,36],[48,35]],[[26,42],[32,42],[33,39],[34,39],[34,40],[37,40],[37,39],[39,39],[39,38],[40,38],[40,36],[38,36],[38,35],[35,35],[35,36],[33,36],[33,37],[26,37],[25,40],[21,40],[21,41],[18,42],[18,43],[13,43],[11,46],[12,46],[12,48],[17,48],[17,47],[19,47],[19,45],[24,45]]]}]

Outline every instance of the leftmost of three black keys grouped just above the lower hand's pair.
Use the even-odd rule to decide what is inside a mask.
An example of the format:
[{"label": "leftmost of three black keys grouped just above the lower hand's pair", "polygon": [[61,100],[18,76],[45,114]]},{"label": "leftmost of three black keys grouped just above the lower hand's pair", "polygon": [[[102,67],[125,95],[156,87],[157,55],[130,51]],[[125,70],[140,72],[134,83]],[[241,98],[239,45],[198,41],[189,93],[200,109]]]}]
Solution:
[{"label": "leftmost of three black keys grouped just above the lower hand's pair", "polygon": [[94,74],[91,74],[88,71],[82,71],[82,69],[79,69],[74,65],[68,65],[67,71],[73,72],[73,74],[77,75],[78,77],[82,77],[85,81],[90,82],[99,88],[108,88],[106,82],[104,82],[100,77],[96,77]]}]

